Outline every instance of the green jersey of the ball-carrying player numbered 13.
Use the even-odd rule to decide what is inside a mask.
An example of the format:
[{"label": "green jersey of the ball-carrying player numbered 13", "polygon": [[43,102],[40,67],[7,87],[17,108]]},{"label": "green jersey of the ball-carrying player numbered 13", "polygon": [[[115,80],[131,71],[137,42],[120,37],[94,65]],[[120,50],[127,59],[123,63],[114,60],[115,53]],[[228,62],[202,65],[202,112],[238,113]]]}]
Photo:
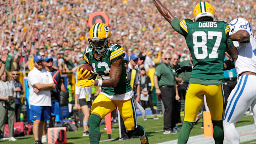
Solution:
[{"label": "green jersey of the ball-carrying player numbered 13", "polygon": [[[84,51],[84,59],[86,63],[92,66],[94,73],[97,74],[97,78],[102,80],[110,79],[111,64],[120,57],[124,57],[124,50],[118,44],[110,44],[107,51],[100,59],[96,59],[94,57],[91,46],[88,46]],[[101,91],[107,95],[124,94],[131,90],[132,88],[126,79],[126,68],[124,66],[124,62],[122,63],[122,73],[118,85],[116,87],[101,88]]]}]

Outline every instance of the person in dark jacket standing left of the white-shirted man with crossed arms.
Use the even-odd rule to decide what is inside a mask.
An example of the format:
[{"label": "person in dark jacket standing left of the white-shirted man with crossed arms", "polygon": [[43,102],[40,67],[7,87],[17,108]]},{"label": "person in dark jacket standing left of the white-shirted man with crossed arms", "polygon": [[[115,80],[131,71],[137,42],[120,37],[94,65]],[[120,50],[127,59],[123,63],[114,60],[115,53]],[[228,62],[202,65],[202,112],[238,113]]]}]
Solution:
[{"label": "person in dark jacket standing left of the white-shirted man with crossed arms", "polygon": [[16,70],[12,71],[11,75],[12,75],[11,81],[14,84],[15,91],[16,91],[16,97],[14,99],[16,122],[20,122],[20,113],[21,113],[21,106],[22,106],[20,95],[23,95],[24,91],[22,89],[21,82],[18,81],[18,75],[19,75],[18,71],[16,71]]}]

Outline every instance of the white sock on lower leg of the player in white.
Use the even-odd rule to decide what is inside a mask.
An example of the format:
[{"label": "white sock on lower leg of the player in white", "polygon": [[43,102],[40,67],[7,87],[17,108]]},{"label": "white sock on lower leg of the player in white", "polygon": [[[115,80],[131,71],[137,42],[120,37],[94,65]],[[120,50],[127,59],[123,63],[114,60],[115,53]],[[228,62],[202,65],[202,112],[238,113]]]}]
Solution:
[{"label": "white sock on lower leg of the player in white", "polygon": [[235,129],[235,124],[223,121],[224,134],[229,144],[239,144],[239,135]]}]

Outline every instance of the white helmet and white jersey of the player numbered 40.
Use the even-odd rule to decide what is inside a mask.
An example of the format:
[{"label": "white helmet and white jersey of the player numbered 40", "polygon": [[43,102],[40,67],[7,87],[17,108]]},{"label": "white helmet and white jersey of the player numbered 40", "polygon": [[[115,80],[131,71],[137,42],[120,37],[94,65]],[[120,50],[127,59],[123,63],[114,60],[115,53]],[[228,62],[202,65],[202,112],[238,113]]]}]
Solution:
[{"label": "white helmet and white jersey of the player numbered 40", "polygon": [[229,23],[230,32],[233,34],[239,30],[245,30],[250,34],[250,43],[240,43],[233,41],[234,46],[238,50],[238,58],[235,61],[237,74],[245,71],[256,73],[256,39],[251,31],[250,22],[244,18],[236,18]]}]

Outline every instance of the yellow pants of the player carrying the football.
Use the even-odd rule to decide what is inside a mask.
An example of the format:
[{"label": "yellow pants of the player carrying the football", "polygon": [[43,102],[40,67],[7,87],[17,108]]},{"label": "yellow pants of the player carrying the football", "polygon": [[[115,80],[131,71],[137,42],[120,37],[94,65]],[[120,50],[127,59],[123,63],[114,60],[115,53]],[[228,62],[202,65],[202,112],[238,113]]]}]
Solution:
[{"label": "yellow pants of the player carrying the football", "polygon": [[132,98],[125,101],[110,100],[103,94],[99,94],[91,106],[91,113],[97,113],[103,119],[108,113],[112,112],[116,106],[124,120],[124,125],[127,130],[134,130],[137,117],[134,116],[135,107],[133,106]]}]

